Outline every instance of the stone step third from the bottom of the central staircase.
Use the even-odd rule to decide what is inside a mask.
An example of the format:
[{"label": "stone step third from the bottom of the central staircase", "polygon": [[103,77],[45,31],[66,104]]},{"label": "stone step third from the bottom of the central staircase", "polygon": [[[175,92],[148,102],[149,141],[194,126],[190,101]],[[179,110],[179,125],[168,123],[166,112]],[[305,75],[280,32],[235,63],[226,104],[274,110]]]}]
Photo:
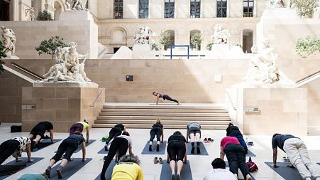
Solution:
[{"label": "stone step third from the bottom of the central staircase", "polygon": [[231,120],[230,117],[166,117],[166,116],[98,116],[96,120],[188,120],[188,121],[197,121],[197,120],[222,120],[222,121],[229,121]]}]

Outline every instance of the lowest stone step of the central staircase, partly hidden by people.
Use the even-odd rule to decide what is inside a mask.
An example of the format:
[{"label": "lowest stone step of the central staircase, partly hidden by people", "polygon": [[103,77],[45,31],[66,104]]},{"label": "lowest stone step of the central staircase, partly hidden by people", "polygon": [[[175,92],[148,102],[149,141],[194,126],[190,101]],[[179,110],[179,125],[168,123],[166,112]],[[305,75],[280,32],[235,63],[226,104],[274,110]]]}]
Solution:
[{"label": "lowest stone step of the central staircase, partly hidden by people", "polygon": [[[94,124],[94,128],[112,128],[116,124]],[[163,125],[165,129],[185,129],[186,125]],[[202,125],[202,129],[226,129],[228,125]],[[150,129],[150,125],[126,124],[126,128],[132,129]]]}]

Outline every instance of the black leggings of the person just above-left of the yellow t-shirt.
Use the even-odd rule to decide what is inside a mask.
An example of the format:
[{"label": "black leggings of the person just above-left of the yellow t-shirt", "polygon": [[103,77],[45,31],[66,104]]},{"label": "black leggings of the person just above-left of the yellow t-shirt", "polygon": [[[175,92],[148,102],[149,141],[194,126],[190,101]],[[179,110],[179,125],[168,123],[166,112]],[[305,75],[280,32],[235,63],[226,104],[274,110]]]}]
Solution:
[{"label": "black leggings of the person just above-left of the yellow t-shirt", "polygon": [[128,150],[128,140],[126,138],[118,137],[114,139],[113,142],[111,142],[108,155],[106,156],[106,159],[104,161],[104,166],[102,167],[102,171],[101,171],[100,178],[102,180],[106,179],[106,177],[104,176],[106,174],[106,169],[108,169],[109,164],[111,163],[112,159],[114,159],[116,152],[118,152],[118,159],[120,159],[120,157],[126,155],[127,150]]}]

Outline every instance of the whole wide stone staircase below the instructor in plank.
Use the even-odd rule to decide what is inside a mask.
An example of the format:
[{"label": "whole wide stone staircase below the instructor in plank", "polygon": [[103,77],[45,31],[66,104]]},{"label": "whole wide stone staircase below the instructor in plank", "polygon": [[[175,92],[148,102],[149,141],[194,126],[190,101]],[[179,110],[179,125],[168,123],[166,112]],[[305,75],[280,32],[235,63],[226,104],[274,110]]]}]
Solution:
[{"label": "whole wide stone staircase below the instructor in plank", "polygon": [[231,119],[223,104],[146,104],[106,103],[92,127],[150,129],[159,118],[165,128],[185,129],[189,122],[199,122],[202,129],[226,129]]}]

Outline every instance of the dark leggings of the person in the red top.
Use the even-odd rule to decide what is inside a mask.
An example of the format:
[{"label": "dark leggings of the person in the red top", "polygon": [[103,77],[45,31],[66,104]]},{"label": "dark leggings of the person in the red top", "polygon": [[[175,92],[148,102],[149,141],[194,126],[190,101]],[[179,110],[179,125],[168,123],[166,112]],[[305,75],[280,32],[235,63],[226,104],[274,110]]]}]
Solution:
[{"label": "dark leggings of the person in the red top", "polygon": [[244,178],[249,174],[249,168],[245,164],[245,150],[241,144],[227,144],[224,147],[224,153],[228,159],[228,164],[232,174],[238,174],[238,169],[242,172]]}]

